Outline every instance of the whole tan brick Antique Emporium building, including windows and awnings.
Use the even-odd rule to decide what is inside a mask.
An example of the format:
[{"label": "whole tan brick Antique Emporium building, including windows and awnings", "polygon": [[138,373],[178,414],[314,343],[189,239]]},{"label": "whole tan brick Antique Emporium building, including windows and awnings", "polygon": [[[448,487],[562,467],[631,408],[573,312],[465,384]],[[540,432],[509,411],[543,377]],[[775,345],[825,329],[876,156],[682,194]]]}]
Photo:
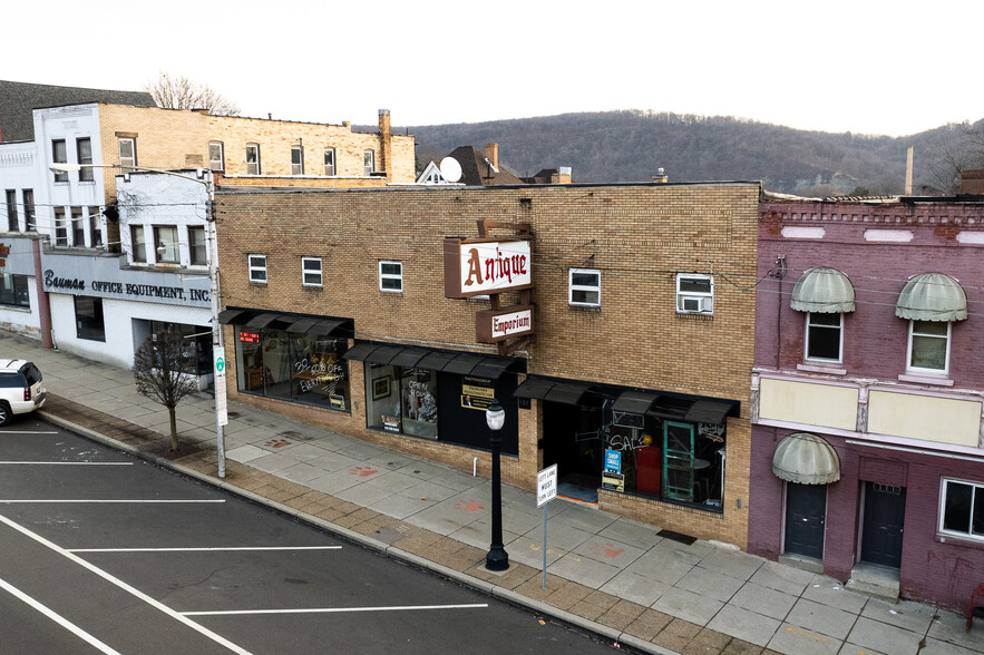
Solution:
[{"label": "whole tan brick Antique Emporium building, including windows and awnings", "polygon": [[[230,394],[484,473],[495,397],[505,480],[557,463],[562,495],[744,547],[759,190],[220,192]],[[529,227],[518,349],[478,341],[495,299],[448,297],[446,239],[478,221]],[[514,236],[490,237],[513,272]]]}]

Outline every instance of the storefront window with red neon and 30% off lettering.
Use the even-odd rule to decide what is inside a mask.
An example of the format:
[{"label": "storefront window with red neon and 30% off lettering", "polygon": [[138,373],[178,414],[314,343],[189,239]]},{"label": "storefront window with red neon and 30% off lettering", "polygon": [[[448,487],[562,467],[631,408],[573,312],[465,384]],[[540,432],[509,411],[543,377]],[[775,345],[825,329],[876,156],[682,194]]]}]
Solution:
[{"label": "storefront window with red neon and 30% off lettering", "polygon": [[236,329],[240,391],[350,411],[348,340],[327,334]]}]

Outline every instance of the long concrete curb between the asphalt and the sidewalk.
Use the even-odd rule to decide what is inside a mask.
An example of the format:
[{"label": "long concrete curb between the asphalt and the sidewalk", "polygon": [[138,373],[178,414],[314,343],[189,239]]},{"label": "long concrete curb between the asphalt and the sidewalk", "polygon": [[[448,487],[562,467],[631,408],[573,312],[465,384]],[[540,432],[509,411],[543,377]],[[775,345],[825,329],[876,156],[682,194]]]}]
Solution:
[{"label": "long concrete curb between the asphalt and the sidewalk", "polygon": [[538,614],[554,617],[558,620],[563,620],[564,623],[596,634],[617,644],[625,644],[626,646],[631,646],[632,648],[642,651],[643,653],[653,653],[655,655],[679,655],[675,651],[668,651],[666,648],[657,646],[651,642],[645,642],[627,633],[622,633],[615,628],[584,618],[583,616],[571,614],[569,612],[565,612],[552,605],[547,605],[546,603],[542,603],[522,594],[517,594],[512,589],[499,587],[498,585],[488,583],[486,580],[483,580],[481,578],[476,578],[457,569],[452,569],[435,561],[430,561],[429,559],[420,557],[419,555],[408,553],[406,550],[397,548],[396,546],[390,546],[389,544],[386,544],[378,539],[373,539],[372,537],[368,537],[361,532],[350,530],[349,528],[329,522],[324,519],[318,518],[316,516],[311,516],[310,514],[305,514],[293,507],[283,505],[282,502],[271,500],[265,496],[260,496],[259,493],[254,493],[253,491],[250,491],[247,489],[236,487],[235,485],[225,480],[216,479],[195,469],[173,462],[169,459],[145,452],[138,448],[135,448],[127,443],[123,443],[121,441],[110,439],[109,437],[106,437],[100,432],[97,432],[89,428],[85,428],[77,423],[72,423],[71,421],[62,419],[61,417],[57,417],[48,411],[39,410],[37,412],[37,416],[70,432],[75,432],[76,434],[80,434],[87,439],[91,439],[92,441],[97,441],[115,450],[121,450],[160,468],[169,469],[188,478],[198,480],[199,482],[211,485],[212,487],[215,487],[217,489],[228,491],[230,493],[235,493],[236,496],[256,502],[257,505],[266,506],[279,512],[285,514],[306,524],[316,526],[318,528],[321,528],[327,532],[337,535],[348,541],[352,541],[354,544],[358,544],[359,546],[363,546],[370,550],[374,550],[377,553],[386,555],[387,557],[392,557],[393,559],[399,559],[406,561],[407,564],[412,564],[418,568],[436,573],[446,578],[471,587],[476,590],[484,592],[486,594],[489,594],[490,596],[497,597],[501,600],[506,600],[507,603],[512,603],[513,605],[526,607]]}]

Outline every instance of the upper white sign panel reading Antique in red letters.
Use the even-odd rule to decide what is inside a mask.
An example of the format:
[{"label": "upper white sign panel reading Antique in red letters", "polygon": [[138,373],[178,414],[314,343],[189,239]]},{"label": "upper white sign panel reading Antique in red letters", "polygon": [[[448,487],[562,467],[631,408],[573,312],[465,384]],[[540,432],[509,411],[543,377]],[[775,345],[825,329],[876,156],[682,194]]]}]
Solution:
[{"label": "upper white sign panel reading Antique in red letters", "polygon": [[445,297],[470,297],[533,286],[526,238],[446,238]]}]

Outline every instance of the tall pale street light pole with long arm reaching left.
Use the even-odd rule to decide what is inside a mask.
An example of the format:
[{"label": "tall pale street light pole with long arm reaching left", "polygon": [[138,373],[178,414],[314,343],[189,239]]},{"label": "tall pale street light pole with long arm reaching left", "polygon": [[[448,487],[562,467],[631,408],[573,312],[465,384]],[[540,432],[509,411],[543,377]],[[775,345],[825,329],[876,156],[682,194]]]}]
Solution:
[{"label": "tall pale street light pole with long arm reaching left", "polygon": [[[142,170],[145,173],[159,173],[162,175],[171,175],[172,177],[181,177],[189,179],[205,186],[208,194],[207,205],[205,207],[205,222],[208,226],[208,241],[212,251],[208,253],[208,281],[211,283],[212,296],[212,350],[213,350],[213,369],[215,366],[214,353],[225,352],[224,338],[222,335],[222,325],[218,324],[220,297],[218,297],[218,239],[215,231],[215,183],[204,169],[198,169],[198,175],[185,175],[184,173],[175,173],[164,168],[148,168],[145,166],[121,166],[120,164],[53,164],[49,166],[53,173],[72,173],[82,168],[119,168],[126,172]],[[224,365],[224,354],[223,354]],[[222,426],[225,413],[225,374],[218,374],[213,370],[215,387],[215,449],[218,456],[218,477],[225,477],[225,438],[223,436]]]}]

